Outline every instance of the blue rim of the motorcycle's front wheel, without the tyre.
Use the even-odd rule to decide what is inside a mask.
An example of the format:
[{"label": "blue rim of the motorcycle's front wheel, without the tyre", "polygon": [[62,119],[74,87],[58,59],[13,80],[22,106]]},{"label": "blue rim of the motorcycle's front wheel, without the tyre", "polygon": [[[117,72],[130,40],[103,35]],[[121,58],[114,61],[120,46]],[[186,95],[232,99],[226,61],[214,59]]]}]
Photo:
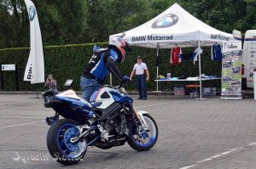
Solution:
[{"label": "blue rim of the motorcycle's front wheel, without the tyre", "polygon": [[[157,133],[156,133],[156,127],[154,126],[154,121],[152,121],[150,118],[147,116],[143,116],[144,120],[146,121],[148,127],[149,127],[149,132],[142,131],[138,129],[137,131],[139,133],[131,133],[133,141],[142,147],[148,147],[154,144],[156,138],[157,138]],[[134,131],[134,125],[131,127],[131,132]],[[140,128],[140,127],[138,127]]]}]

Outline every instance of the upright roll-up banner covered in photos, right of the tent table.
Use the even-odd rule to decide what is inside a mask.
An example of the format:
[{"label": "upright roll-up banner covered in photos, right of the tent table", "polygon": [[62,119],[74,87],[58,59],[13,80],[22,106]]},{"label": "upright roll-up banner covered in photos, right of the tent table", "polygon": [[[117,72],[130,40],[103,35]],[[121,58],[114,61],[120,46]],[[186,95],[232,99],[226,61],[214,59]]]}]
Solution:
[{"label": "upright roll-up banner covered in photos, right of the tent table", "polygon": [[224,42],[221,99],[241,99],[241,42]]}]

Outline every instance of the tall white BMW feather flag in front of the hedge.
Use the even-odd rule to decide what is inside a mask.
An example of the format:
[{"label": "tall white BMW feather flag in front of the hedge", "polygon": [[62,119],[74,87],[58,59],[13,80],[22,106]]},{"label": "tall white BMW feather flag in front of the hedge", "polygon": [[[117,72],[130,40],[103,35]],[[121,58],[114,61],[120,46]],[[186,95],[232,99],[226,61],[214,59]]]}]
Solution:
[{"label": "tall white BMW feather flag in front of the hedge", "polygon": [[30,54],[26,64],[24,81],[32,84],[44,82],[44,52],[37,9],[31,0],[24,0],[30,21]]}]

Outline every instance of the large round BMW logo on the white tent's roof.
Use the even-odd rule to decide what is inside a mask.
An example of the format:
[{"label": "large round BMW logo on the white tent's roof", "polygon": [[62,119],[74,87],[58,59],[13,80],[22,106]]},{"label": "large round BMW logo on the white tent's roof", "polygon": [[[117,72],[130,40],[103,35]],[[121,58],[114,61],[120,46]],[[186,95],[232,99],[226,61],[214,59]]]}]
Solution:
[{"label": "large round BMW logo on the white tent's roof", "polygon": [[178,17],[176,14],[165,14],[161,16],[159,19],[155,20],[152,28],[166,28],[177,23]]}]

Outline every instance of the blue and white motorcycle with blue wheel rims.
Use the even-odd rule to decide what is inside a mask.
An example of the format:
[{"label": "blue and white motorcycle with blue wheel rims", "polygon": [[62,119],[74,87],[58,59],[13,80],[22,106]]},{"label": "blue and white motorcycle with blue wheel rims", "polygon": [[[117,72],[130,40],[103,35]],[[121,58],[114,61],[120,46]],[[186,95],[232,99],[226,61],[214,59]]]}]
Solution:
[{"label": "blue and white motorcycle with blue wheel rims", "polygon": [[123,84],[100,88],[90,102],[72,89],[63,93],[49,90],[43,97],[44,106],[55,110],[54,116],[46,118],[49,154],[63,165],[82,161],[88,146],[110,149],[127,142],[132,149],[147,151],[157,141],[154,118],[134,108]]}]

